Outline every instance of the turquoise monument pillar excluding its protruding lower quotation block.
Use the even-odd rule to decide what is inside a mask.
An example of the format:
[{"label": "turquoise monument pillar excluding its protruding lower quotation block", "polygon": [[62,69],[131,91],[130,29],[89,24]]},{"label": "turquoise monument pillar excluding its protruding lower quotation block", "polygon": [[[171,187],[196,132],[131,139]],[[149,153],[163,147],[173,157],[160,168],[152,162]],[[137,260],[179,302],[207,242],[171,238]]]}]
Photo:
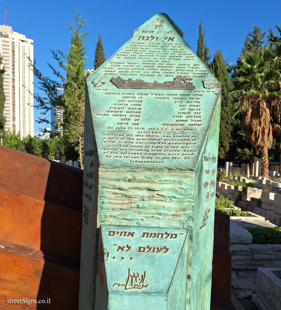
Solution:
[{"label": "turquoise monument pillar excluding its protruding lower quotation block", "polygon": [[157,14],[87,79],[80,310],[101,224],[188,229],[186,308],[210,309],[221,85],[183,37]]}]

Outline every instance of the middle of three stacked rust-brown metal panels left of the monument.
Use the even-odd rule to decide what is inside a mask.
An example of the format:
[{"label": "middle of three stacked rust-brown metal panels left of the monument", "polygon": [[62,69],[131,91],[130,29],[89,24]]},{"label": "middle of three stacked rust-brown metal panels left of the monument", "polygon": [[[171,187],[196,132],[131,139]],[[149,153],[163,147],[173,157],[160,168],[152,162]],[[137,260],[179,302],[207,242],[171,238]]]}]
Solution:
[{"label": "middle of three stacked rust-brown metal panels left of the monument", "polygon": [[0,189],[0,239],[80,259],[82,212]]}]

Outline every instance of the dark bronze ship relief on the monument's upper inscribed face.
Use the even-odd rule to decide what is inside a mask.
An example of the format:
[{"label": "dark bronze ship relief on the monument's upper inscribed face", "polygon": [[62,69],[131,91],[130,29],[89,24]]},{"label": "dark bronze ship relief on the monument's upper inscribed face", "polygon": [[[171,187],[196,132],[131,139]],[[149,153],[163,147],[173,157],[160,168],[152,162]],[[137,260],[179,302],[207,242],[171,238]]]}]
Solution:
[{"label": "dark bronze ship relief on the monument's upper inscribed face", "polygon": [[132,80],[129,78],[128,80],[124,80],[123,78],[111,78],[110,82],[114,84],[117,88],[123,89],[180,89],[180,90],[194,90],[195,86],[189,81],[192,78],[177,75],[173,81],[166,81],[163,83],[159,83],[158,81],[145,82],[141,79]]}]

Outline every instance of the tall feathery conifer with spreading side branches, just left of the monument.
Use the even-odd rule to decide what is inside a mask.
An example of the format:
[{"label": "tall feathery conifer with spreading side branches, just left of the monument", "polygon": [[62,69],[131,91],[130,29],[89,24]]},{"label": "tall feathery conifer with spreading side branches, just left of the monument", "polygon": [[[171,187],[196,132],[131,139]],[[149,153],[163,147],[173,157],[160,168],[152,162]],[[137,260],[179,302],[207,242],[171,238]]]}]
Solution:
[{"label": "tall feathery conifer with spreading side branches, just left of the monument", "polygon": [[[37,88],[43,92],[34,94],[37,101],[35,107],[40,109],[40,117],[37,122],[50,124],[50,116],[56,113],[57,109],[63,109],[63,120],[58,119],[55,128],[63,127],[64,154],[66,159],[76,160],[79,157],[80,166],[83,168],[83,147],[84,147],[84,97],[85,79],[84,74],[86,47],[84,46],[87,33],[82,32],[86,20],[81,21],[83,15],[80,12],[75,16],[75,26],[68,24],[72,31],[71,44],[68,54],[63,51],[51,50],[57,65],[65,72],[64,76],[53,65],[48,63],[52,70],[53,77],[43,76],[36,63],[30,60],[30,66],[37,78]],[[63,89],[63,94],[61,93]],[[46,130],[42,131],[43,133]],[[50,133],[52,136],[52,133]]]}]

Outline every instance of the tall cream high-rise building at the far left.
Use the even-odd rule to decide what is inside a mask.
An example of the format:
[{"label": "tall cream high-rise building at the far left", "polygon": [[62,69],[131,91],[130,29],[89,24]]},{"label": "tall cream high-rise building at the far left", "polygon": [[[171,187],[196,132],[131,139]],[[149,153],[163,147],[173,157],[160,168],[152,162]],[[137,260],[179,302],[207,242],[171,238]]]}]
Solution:
[{"label": "tall cream high-rise building at the far left", "polygon": [[33,40],[14,32],[12,27],[0,25],[0,54],[5,66],[4,115],[5,129],[20,133],[21,137],[34,135],[33,124],[33,72],[29,60],[33,60]]}]

